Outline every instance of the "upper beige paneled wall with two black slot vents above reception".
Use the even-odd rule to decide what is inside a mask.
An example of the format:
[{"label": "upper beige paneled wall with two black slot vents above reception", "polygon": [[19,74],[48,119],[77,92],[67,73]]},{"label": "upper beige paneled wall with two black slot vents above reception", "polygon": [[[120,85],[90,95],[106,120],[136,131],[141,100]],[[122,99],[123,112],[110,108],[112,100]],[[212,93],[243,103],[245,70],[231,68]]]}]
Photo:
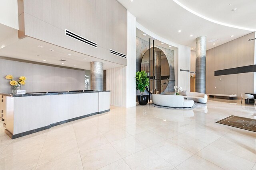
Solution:
[{"label": "upper beige paneled wall with two black slot vents above reception", "polygon": [[[127,65],[127,59],[110,54],[110,49],[127,54],[127,10],[116,0],[24,0],[22,22],[27,36]],[[66,36],[65,29],[98,48]]]}]

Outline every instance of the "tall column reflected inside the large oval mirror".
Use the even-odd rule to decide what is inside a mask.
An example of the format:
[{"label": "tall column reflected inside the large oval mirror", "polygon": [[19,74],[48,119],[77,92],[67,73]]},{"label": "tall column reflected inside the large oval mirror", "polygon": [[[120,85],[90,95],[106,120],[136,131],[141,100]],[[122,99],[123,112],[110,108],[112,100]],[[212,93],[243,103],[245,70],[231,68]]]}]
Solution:
[{"label": "tall column reflected inside the large oval mirror", "polygon": [[161,93],[161,51],[156,51],[154,53],[154,76],[156,79],[154,80],[154,88],[156,89],[156,91],[159,91]]}]

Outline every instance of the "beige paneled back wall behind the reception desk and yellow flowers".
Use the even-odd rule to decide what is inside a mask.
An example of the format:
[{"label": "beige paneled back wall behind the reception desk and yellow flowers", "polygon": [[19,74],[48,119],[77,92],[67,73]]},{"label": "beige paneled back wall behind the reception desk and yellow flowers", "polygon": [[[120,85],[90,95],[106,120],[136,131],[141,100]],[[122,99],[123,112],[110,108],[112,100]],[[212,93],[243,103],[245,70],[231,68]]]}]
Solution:
[{"label": "beige paneled back wall behind the reception desk and yellow flowers", "polygon": [[11,93],[10,80],[5,78],[8,74],[12,74],[15,80],[20,76],[26,76],[26,85],[21,87],[26,92],[84,90],[85,88],[85,71],[0,59],[1,93]]}]

